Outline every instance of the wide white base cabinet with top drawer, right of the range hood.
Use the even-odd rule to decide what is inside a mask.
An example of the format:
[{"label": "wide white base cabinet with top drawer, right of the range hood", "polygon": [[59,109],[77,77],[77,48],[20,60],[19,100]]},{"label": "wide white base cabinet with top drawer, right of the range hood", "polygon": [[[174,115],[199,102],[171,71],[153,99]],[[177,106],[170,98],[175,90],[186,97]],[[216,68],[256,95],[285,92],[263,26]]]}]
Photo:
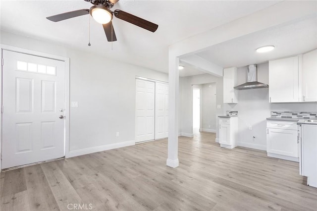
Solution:
[{"label": "wide white base cabinet with top drawer, right of the range hood", "polygon": [[267,156],[299,161],[299,145],[297,135],[297,122],[267,121]]}]

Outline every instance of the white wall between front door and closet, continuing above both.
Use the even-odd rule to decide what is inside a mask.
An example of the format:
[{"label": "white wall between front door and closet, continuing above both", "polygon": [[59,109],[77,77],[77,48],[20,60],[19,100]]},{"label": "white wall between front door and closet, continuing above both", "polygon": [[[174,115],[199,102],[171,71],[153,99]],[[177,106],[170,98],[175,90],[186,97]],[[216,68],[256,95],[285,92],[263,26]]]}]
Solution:
[{"label": "white wall between front door and closet, continuing above both", "polygon": [[73,156],[133,143],[135,76],[168,81],[165,73],[3,31],[0,43],[70,57],[70,101],[78,102],[69,116]]}]

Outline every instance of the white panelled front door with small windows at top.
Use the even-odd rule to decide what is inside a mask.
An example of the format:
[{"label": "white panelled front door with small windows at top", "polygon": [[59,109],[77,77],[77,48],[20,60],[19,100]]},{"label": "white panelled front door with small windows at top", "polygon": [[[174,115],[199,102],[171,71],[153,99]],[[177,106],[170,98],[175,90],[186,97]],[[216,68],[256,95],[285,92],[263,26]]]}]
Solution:
[{"label": "white panelled front door with small windows at top", "polygon": [[2,168],[64,156],[64,61],[3,50]]}]

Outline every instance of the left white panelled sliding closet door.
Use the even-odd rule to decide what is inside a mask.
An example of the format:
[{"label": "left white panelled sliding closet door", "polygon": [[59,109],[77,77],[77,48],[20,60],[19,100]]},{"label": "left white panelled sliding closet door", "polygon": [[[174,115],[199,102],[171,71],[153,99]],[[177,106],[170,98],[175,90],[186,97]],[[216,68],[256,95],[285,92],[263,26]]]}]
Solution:
[{"label": "left white panelled sliding closet door", "polygon": [[135,142],[154,140],[155,82],[136,79]]}]

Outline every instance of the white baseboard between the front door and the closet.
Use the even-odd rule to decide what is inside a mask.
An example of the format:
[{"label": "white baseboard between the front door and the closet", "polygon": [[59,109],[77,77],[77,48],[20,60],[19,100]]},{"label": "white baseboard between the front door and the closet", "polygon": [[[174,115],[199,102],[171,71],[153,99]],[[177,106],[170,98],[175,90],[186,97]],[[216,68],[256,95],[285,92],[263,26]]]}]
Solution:
[{"label": "white baseboard between the front door and the closet", "polygon": [[97,153],[97,152],[106,151],[106,150],[112,150],[112,149],[116,149],[116,148],[120,148],[120,147],[128,147],[128,146],[132,146],[132,145],[135,145],[134,140],[115,143],[115,144],[107,144],[107,145],[102,145],[102,146],[98,146],[98,147],[91,147],[91,148],[82,149],[82,150],[74,150],[74,151],[70,151],[66,158],[82,156],[82,155]]}]

